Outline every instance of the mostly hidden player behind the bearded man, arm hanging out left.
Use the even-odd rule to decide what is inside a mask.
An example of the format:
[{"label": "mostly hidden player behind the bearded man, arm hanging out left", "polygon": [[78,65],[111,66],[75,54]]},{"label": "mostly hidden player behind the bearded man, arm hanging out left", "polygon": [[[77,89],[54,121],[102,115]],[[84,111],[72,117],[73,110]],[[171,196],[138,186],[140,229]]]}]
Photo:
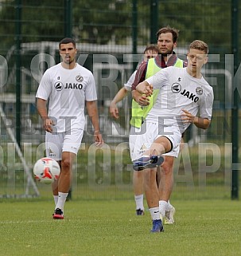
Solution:
[{"label": "mostly hidden player behind the bearded man, arm hanging out left", "polygon": [[[147,45],[146,49],[144,50],[144,60],[148,60],[150,58],[156,57],[159,52],[157,45]],[[115,117],[116,119],[119,118],[119,109],[117,107],[117,103],[121,101],[128,92],[131,91],[131,86],[134,82],[134,77],[137,73],[137,70],[132,73],[129,80],[126,84],[116,93],[113,100],[111,100],[110,104],[110,112],[111,116]],[[143,205],[143,179],[138,179],[139,175],[137,171],[133,172],[133,187],[134,187],[134,198],[136,202],[136,215],[144,215],[144,205]],[[141,199],[138,199],[141,198]]]}]

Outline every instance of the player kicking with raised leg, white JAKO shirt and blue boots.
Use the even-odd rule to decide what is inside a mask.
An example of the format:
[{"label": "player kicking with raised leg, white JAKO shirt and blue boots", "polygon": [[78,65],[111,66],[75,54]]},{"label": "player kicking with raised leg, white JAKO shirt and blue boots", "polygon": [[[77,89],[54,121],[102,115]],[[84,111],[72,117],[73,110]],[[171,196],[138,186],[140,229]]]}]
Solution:
[{"label": "player kicking with raised leg, white JAKO shirt and blue boots", "polygon": [[[142,124],[142,131],[145,132],[136,141],[134,154],[138,158],[133,163],[137,171],[146,169],[143,171],[144,183],[146,201],[153,219],[152,232],[163,230],[156,183],[156,166],[164,160],[161,155],[178,148],[181,135],[189,124],[207,129],[211,123],[213,90],[201,74],[202,66],[208,61],[208,45],[204,41],[192,41],[187,59],[187,68],[163,69],[136,87],[139,93],[146,96],[159,89],[154,107]],[[196,116],[197,112],[200,117]]]}]

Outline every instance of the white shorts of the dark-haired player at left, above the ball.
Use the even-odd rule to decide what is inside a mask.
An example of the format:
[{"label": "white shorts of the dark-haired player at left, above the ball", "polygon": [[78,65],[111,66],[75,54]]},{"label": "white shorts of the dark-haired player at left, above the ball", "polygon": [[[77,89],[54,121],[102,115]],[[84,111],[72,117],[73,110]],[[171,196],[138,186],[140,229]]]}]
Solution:
[{"label": "white shorts of the dark-haired player at left, above the ball", "polygon": [[62,160],[62,152],[72,152],[77,155],[83,135],[84,130],[82,129],[73,129],[71,132],[55,134],[46,132],[46,156],[59,161]]}]

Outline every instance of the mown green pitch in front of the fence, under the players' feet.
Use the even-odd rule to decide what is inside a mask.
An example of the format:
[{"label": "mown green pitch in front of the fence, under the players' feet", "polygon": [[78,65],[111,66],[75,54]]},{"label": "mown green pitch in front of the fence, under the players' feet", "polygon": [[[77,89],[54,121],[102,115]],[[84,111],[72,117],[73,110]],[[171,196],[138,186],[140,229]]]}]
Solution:
[{"label": "mown green pitch in front of the fence, under the players' feet", "polygon": [[53,220],[52,200],[0,203],[0,256],[238,255],[240,203],[173,200],[176,223],[150,234],[150,214],[133,200],[72,200]]}]

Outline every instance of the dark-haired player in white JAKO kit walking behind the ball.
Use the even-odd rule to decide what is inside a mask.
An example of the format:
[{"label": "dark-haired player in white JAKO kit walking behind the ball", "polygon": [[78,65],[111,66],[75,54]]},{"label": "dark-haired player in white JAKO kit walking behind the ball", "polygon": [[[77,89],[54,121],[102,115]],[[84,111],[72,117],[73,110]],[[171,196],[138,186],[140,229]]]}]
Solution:
[{"label": "dark-haired player in white JAKO kit walking behind the ball", "polygon": [[[59,161],[60,178],[52,184],[55,201],[53,219],[64,219],[64,203],[71,186],[72,163],[84,134],[84,108],[91,117],[95,144],[103,144],[99,132],[94,77],[76,63],[76,42],[64,38],[59,43],[61,62],[47,69],[37,89],[37,110],[43,120],[46,155]],[[49,100],[49,112],[47,111]]]}]

